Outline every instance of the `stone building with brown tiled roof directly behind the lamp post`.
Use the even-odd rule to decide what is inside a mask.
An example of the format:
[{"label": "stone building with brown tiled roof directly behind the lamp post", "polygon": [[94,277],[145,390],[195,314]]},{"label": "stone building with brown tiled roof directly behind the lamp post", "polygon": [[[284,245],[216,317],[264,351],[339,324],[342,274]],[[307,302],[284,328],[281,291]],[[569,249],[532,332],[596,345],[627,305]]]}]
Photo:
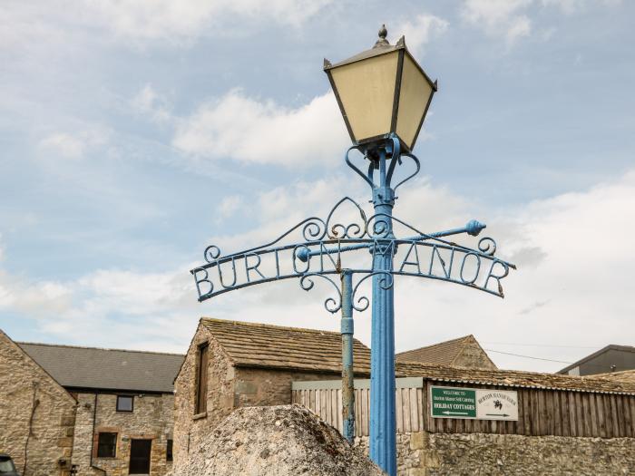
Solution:
[{"label": "stone building with brown tiled roof directly behind the lamp post", "polygon": [[[370,349],[355,340],[355,374],[370,373]],[[201,318],[175,382],[175,474],[202,435],[241,406],[291,402],[294,380],[342,372],[337,332]]]}]

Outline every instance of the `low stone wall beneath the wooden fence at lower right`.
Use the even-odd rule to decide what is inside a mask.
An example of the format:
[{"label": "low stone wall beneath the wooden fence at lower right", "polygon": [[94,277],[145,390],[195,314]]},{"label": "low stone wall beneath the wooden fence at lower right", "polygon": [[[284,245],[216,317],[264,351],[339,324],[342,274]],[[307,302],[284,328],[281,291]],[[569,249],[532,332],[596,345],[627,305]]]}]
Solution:
[{"label": "low stone wall beneath the wooden fence at lower right", "polygon": [[[356,445],[367,452],[368,438]],[[635,474],[635,439],[413,432],[397,435],[400,476]]]}]

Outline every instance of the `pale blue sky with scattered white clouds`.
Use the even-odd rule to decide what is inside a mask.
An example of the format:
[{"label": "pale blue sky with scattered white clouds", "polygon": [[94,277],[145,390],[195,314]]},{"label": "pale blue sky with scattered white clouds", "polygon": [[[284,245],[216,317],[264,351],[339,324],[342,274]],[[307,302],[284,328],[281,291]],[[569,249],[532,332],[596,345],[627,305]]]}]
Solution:
[{"label": "pale blue sky with scattered white clouds", "polygon": [[[326,287],[198,303],[189,270],[345,195],[368,207],[322,64],[386,24],[439,83],[396,216],[479,219],[518,265],[504,299],[397,278],[397,351],[473,334],[502,368],[555,372],[635,345],[634,15],[618,0],[5,0],[0,328],[179,353],[200,316],[337,331]],[[370,312],[355,319],[369,344]]]}]

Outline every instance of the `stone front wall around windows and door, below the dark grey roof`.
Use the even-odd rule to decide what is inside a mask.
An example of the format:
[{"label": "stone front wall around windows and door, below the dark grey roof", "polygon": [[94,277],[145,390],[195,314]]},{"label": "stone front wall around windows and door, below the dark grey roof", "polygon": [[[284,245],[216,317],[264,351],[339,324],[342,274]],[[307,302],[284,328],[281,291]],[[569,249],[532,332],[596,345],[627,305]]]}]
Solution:
[{"label": "stone front wall around windows and door, below the dark grey roof", "polygon": [[[128,474],[131,441],[151,440],[151,476],[162,476],[171,471],[167,461],[167,444],[173,434],[174,395],[146,393],[134,395],[132,413],[117,412],[117,395],[100,393],[77,394],[79,407],[75,423],[73,464],[79,465],[78,474],[123,476]],[[114,458],[97,457],[99,432],[116,432],[117,448]],[[93,457],[91,460],[91,456]],[[92,468],[93,466],[97,468]],[[101,468],[100,471],[99,468]]]}]

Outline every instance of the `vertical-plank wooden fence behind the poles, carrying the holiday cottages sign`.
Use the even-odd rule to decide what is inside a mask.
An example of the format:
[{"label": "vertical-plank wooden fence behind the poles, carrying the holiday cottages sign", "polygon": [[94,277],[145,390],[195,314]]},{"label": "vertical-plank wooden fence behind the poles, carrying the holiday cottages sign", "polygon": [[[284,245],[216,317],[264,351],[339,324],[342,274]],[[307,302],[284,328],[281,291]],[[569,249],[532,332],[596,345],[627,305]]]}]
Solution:
[{"label": "vertical-plank wooden fence behind the poles, carrying the holiday cottages sign", "polygon": [[[341,381],[294,382],[292,403],[317,413],[342,431]],[[513,390],[518,393],[518,421],[433,418],[430,385]],[[355,424],[358,436],[368,435],[370,381],[355,381]],[[524,435],[635,437],[635,395],[568,390],[445,384],[423,377],[396,379],[397,432],[501,433]]]}]

